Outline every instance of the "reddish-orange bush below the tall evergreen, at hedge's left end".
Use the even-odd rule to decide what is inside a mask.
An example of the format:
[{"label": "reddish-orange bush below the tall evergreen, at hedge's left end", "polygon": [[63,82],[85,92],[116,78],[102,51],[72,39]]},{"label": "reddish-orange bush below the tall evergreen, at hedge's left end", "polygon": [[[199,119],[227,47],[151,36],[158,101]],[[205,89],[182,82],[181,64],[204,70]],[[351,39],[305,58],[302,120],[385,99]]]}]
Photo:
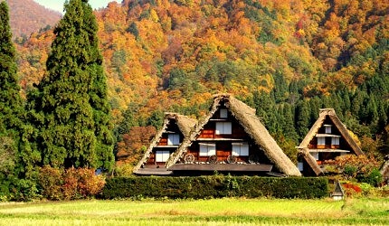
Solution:
[{"label": "reddish-orange bush below the tall evergreen, at hedge's left end", "polygon": [[102,175],[96,175],[95,170],[90,168],[61,170],[44,166],[41,168],[38,183],[46,199],[75,200],[101,193],[105,179]]}]

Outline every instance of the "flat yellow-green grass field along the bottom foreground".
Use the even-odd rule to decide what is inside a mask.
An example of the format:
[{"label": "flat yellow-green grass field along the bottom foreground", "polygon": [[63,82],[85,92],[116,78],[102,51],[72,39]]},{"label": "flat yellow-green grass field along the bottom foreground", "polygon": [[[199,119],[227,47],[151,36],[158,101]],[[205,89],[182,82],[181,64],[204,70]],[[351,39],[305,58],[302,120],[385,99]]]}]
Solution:
[{"label": "flat yellow-green grass field along the bottom foreground", "polygon": [[0,202],[0,225],[389,225],[389,198]]}]

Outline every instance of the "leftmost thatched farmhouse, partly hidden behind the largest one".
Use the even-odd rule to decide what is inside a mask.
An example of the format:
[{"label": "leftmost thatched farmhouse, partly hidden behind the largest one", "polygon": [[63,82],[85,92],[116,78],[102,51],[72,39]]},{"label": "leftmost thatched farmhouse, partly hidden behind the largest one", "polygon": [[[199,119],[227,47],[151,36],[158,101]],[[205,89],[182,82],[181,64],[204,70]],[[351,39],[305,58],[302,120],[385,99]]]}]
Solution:
[{"label": "leftmost thatched farmhouse, partly hidden behind the largest one", "polygon": [[176,113],[166,113],[163,126],[157,131],[145,154],[133,169],[134,174],[172,174],[166,161],[189,134],[197,120]]}]

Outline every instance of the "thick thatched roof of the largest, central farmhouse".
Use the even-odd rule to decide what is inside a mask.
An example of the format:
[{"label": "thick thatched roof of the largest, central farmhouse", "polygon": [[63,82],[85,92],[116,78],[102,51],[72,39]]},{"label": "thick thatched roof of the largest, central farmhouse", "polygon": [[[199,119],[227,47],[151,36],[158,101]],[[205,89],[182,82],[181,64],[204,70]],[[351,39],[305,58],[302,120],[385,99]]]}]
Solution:
[{"label": "thick thatched roof of the largest, central farmhouse", "polygon": [[230,94],[219,94],[213,97],[213,105],[205,118],[194,127],[191,134],[185,137],[183,143],[178,147],[176,153],[171,155],[166,162],[166,167],[170,167],[178,161],[188,146],[200,135],[204,126],[213,117],[213,114],[224,104],[232,113],[232,116],[242,125],[245,132],[255,141],[255,143],[263,148],[263,152],[270,161],[276,165],[280,172],[288,175],[301,175],[299,169],[294,165],[289,157],[283,153],[280,146],[277,145],[273,137],[270,136],[268,130],[262,125],[260,119],[255,115],[255,109],[250,108],[242,101],[233,98]]}]

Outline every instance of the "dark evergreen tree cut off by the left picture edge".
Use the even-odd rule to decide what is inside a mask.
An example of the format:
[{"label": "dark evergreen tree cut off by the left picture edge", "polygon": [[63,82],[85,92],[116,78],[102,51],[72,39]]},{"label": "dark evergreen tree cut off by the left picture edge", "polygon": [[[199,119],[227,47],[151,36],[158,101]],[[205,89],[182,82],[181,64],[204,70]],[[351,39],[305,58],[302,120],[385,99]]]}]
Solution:
[{"label": "dark evergreen tree cut off by the left picture edge", "polygon": [[0,195],[8,193],[17,173],[18,146],[23,127],[24,102],[20,96],[9,9],[0,2]]}]

